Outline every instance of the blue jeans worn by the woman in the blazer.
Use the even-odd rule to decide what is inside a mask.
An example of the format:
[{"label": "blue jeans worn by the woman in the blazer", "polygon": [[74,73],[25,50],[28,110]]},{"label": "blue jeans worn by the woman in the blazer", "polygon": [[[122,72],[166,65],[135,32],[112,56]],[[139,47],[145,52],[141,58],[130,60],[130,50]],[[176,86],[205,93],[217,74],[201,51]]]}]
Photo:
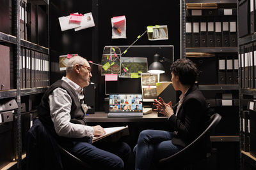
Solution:
[{"label": "blue jeans worn by the woman in the blazer", "polygon": [[140,132],[138,144],[133,149],[136,156],[135,169],[149,169],[152,162],[179,152],[182,147],[173,145],[173,136],[175,134],[168,131],[145,130]]}]

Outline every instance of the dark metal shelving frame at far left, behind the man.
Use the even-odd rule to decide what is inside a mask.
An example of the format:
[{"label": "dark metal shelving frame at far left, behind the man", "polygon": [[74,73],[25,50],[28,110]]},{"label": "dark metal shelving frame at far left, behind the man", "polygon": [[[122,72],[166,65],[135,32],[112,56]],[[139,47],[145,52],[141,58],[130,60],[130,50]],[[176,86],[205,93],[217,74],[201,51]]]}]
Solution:
[{"label": "dark metal shelving frame at far left, behind the man", "polygon": [[[22,146],[22,142],[24,141],[24,136],[26,135],[26,129],[22,129],[22,128],[24,127],[25,124],[28,124],[29,126],[30,121],[22,122],[24,120],[24,118],[22,118],[23,117],[22,115],[24,115],[24,113],[21,113],[21,112],[24,110],[22,110],[21,104],[29,103],[28,99],[30,96],[42,95],[48,86],[22,89],[22,85],[21,85],[22,65],[21,64],[24,61],[21,60],[22,57],[20,56],[22,53],[20,51],[21,51],[21,48],[25,48],[25,49],[31,50],[31,52],[44,53],[45,55],[48,56],[48,60],[49,60],[49,1],[48,0],[39,0],[39,1],[12,0],[9,2],[10,2],[9,10],[12,10],[12,12],[9,11],[8,15],[12,13],[11,15],[12,17],[10,17],[10,20],[12,20],[12,24],[11,24],[12,29],[10,29],[10,34],[6,34],[0,31],[0,44],[10,47],[10,69],[12,69],[12,71],[10,70],[11,88],[10,90],[0,90],[0,103],[2,103],[3,101],[8,101],[9,99],[15,99],[15,101],[17,102],[18,108],[13,113],[12,122],[0,122],[1,132],[10,133],[10,135],[8,134],[8,136],[12,136],[12,138],[10,138],[11,141],[8,141],[8,146],[12,145],[12,150],[3,149],[1,151],[1,154],[6,154],[6,159],[0,160],[0,169],[12,169],[12,168],[22,169],[21,162],[26,157],[26,154],[24,154],[24,148],[23,148],[24,146]],[[44,18],[45,20],[47,20],[47,25],[45,25],[47,30],[47,46],[41,46],[39,45],[38,42],[32,43],[28,40],[21,39],[20,22],[22,18],[20,14],[22,13],[20,12],[20,10],[24,9],[24,13],[28,12],[28,8],[26,8],[27,6],[25,7],[25,4],[31,4],[31,3],[35,4],[36,6],[44,6],[45,16],[47,16]],[[24,8],[20,8],[20,4],[22,4],[22,6],[24,5]],[[22,15],[24,15],[24,13]],[[1,13],[1,15],[4,15],[4,13]],[[36,19],[36,23],[37,23],[37,19]],[[4,23],[2,24],[4,25]],[[25,26],[29,27],[29,24],[25,22]],[[28,33],[26,32],[26,34]],[[30,57],[30,56],[24,56],[24,57]],[[29,60],[32,61],[31,58],[29,58]],[[29,64],[28,68],[30,73],[32,71],[32,66]],[[13,80],[11,77],[13,78]],[[48,77],[49,77],[49,73],[48,73]],[[32,103],[34,104],[35,101],[31,102],[31,104]],[[29,107],[33,108],[35,106],[26,106],[25,109],[28,110],[27,112],[28,114],[29,114]],[[6,130],[6,127],[8,127],[7,130]],[[1,136],[1,140],[3,140],[4,138],[5,136]],[[7,160],[9,160],[10,162],[8,162]]]}]

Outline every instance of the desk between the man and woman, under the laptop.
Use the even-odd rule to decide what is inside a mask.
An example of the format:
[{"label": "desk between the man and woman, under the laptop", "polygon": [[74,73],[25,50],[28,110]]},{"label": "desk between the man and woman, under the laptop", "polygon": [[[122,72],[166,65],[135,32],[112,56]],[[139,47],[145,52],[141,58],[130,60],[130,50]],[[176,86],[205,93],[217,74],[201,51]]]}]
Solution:
[{"label": "desk between the man and woman, under the laptop", "polygon": [[95,112],[88,114],[85,117],[86,122],[167,122],[167,117],[157,117],[157,112],[153,111],[143,117],[111,117],[108,118],[108,113]]}]

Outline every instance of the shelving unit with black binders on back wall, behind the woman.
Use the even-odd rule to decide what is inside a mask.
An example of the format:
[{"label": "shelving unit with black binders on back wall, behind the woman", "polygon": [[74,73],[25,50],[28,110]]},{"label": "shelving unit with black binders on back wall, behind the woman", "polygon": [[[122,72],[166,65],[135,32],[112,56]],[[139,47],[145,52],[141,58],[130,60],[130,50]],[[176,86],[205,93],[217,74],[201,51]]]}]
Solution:
[{"label": "shelving unit with black binders on back wall, behind the woman", "polygon": [[[195,6],[195,4],[201,4],[198,6],[198,8],[194,8],[192,6]],[[190,6],[189,6],[190,5]],[[207,8],[204,8],[203,6],[207,6],[207,5],[212,5],[215,6],[215,9],[211,9],[211,11],[213,11],[212,13],[215,13],[215,15],[205,15],[204,13],[208,13]],[[226,83],[220,83],[220,79],[218,78],[218,69],[219,69],[219,60],[218,59],[222,59],[225,58],[225,66],[227,69],[227,60],[233,60],[233,71],[234,71],[234,60],[237,60],[237,53],[238,53],[238,47],[236,46],[209,46],[209,43],[207,43],[207,41],[209,40],[207,34],[208,34],[208,22],[213,22],[214,24],[214,31],[216,29],[216,23],[215,22],[220,22],[221,23],[221,31],[223,28],[223,22],[228,22],[228,24],[230,24],[230,22],[234,21],[236,22],[236,20],[231,20],[231,18],[229,19],[226,16],[220,16],[220,11],[218,11],[219,9],[232,9],[232,12],[236,12],[234,9],[237,8],[237,2],[235,0],[225,0],[225,1],[209,1],[209,0],[187,0],[186,1],[186,6],[188,7],[188,9],[186,9],[186,22],[188,22],[188,28],[189,28],[189,23],[191,23],[191,43],[189,44],[189,40],[188,38],[186,38],[186,45],[188,44],[189,47],[186,47],[186,58],[191,59],[193,62],[195,62],[198,66],[198,70],[200,71],[199,73],[199,79],[198,79],[198,89],[202,91],[202,93],[204,94],[207,103],[209,104],[209,106],[211,107],[211,110],[214,110],[214,112],[216,113],[220,113],[220,115],[222,116],[221,122],[220,124],[216,127],[216,131],[214,132],[214,134],[211,135],[210,139],[212,141],[212,146],[216,147],[217,150],[218,148],[222,148],[223,146],[227,145],[227,143],[230,143],[230,145],[225,148],[225,150],[232,150],[233,147],[237,148],[237,146],[239,146],[239,99],[238,99],[238,93],[239,93],[239,85],[238,83],[236,83],[236,81],[234,81],[234,79],[232,80],[233,83],[227,83],[228,81],[226,81]],[[193,9],[192,9],[193,8]],[[199,12],[199,14],[197,15],[192,15],[192,11],[191,10],[201,10],[201,14]],[[215,10],[215,11],[214,11]],[[194,11],[195,12],[195,11]],[[196,12],[195,12],[196,13]],[[194,14],[195,14],[194,13]],[[234,15],[234,13],[232,13]],[[197,18],[196,18],[197,17]],[[218,20],[220,17],[221,20]],[[224,20],[226,17],[227,20]],[[234,16],[231,16],[234,18]],[[188,18],[188,19],[187,19]],[[198,37],[200,37],[202,35],[202,38],[204,38],[204,35],[206,36],[206,46],[205,45],[196,45],[196,36],[195,38],[193,38],[194,34],[194,27],[193,24],[195,23],[199,23],[198,25]],[[206,34],[201,34],[200,30],[201,30],[201,22],[205,22],[205,33]],[[236,22],[237,23],[237,22]],[[187,25],[187,23],[186,23]],[[202,24],[203,25],[203,24]],[[195,24],[196,26],[196,24]],[[204,29],[202,27],[202,29]],[[196,27],[195,27],[196,30]],[[230,25],[228,25],[228,31],[230,31]],[[189,36],[189,33],[187,34],[187,32],[189,32],[189,29],[186,29],[186,32],[184,34]],[[196,35],[196,34],[195,34]],[[228,34],[230,35],[230,33]],[[223,41],[222,39],[223,33],[221,32],[221,41]],[[190,37],[190,36],[189,36]],[[230,38],[230,37],[229,37]],[[215,32],[214,32],[214,45],[216,43],[216,37],[215,37]],[[230,40],[231,41],[231,40]],[[202,42],[201,38],[198,38],[198,42],[199,44]],[[193,43],[195,43],[195,46],[193,45]],[[223,43],[224,44],[224,43]],[[191,46],[190,46],[191,45]],[[230,44],[229,44],[230,45]],[[222,58],[221,58],[222,57]],[[212,70],[212,69],[215,69]],[[237,70],[238,72],[238,70]],[[225,74],[227,74],[227,70],[225,72]],[[232,74],[235,77],[235,73],[233,72]],[[200,82],[200,76],[201,80],[204,80]],[[238,76],[238,75],[237,75]],[[205,79],[207,79],[207,81],[205,81]],[[220,96],[222,94],[232,94],[232,98],[228,99],[230,100],[232,103],[231,106],[230,105],[223,105],[222,100]],[[237,97],[233,98],[233,97]],[[228,127],[225,127],[225,125],[228,125]],[[225,129],[225,131],[222,131],[221,129]],[[230,149],[232,148],[232,149]],[[218,152],[218,151],[217,151]],[[223,152],[223,150],[220,149],[219,152]],[[227,151],[228,152],[228,151]],[[217,153],[218,154],[218,153]],[[237,157],[236,155],[232,154],[232,153],[225,153],[227,154],[227,156],[220,154],[220,158],[218,158],[218,164],[221,164],[221,161],[227,161],[227,163],[225,163],[226,169],[227,167],[234,167],[237,168],[234,165],[228,165],[228,162],[230,160],[230,162],[234,161],[237,162]],[[231,154],[231,155],[228,155]],[[236,153],[237,155],[239,155],[239,153]],[[218,156],[219,157],[219,156]],[[223,157],[223,158],[222,158]],[[227,159],[227,160],[224,160]],[[217,161],[217,160],[216,160]],[[220,161],[220,162],[219,162]],[[219,169],[225,169],[225,166],[220,166]]]}]

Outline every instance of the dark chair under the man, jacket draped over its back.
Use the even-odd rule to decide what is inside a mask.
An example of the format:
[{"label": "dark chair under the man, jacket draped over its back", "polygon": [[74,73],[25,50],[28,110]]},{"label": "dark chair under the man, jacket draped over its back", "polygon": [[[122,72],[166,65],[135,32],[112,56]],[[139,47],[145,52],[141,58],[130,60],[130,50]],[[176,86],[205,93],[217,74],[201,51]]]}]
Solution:
[{"label": "dark chair under the man, jacket draped over its back", "polygon": [[26,134],[26,169],[92,169],[92,167],[58,145],[39,119]]}]

